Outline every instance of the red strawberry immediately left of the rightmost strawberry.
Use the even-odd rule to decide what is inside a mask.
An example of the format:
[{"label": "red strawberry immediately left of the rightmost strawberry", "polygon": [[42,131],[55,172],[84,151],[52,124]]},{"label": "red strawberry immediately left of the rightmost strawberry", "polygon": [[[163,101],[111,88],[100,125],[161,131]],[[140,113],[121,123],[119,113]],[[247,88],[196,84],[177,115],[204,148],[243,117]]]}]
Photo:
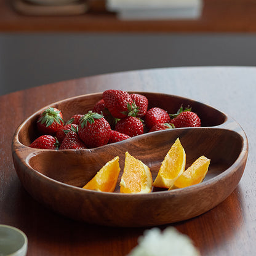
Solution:
[{"label": "red strawberry immediately left of the rightmost strawberry", "polygon": [[150,108],[145,114],[145,124],[148,129],[151,129],[155,124],[161,124],[164,122],[170,122],[170,116],[162,108]]}]

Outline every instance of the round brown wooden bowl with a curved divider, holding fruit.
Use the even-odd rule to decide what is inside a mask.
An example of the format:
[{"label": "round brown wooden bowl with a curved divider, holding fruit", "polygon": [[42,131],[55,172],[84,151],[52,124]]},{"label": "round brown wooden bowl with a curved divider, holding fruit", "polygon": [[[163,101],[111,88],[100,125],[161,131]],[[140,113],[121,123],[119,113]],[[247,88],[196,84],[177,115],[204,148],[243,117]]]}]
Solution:
[{"label": "round brown wooden bowl with a curved divider, holding fruit", "polygon": [[[159,106],[169,113],[175,113],[181,104],[192,106],[201,117],[202,127],[162,130],[90,150],[37,150],[28,145],[38,136],[35,123],[44,108],[18,127],[12,141],[14,166],[25,189],[55,212],[108,226],[154,226],[187,220],[226,199],[238,185],[247,161],[247,138],[239,124],[221,111],[188,98],[138,93],[148,98],[149,108]],[[66,121],[73,114],[86,113],[100,98],[102,93],[81,95],[50,106],[62,110]],[[186,151],[186,166],[202,154],[211,159],[202,183],[149,194],[81,188],[114,156],[120,158],[121,177],[126,151],[150,167],[154,180],[177,137]]]}]

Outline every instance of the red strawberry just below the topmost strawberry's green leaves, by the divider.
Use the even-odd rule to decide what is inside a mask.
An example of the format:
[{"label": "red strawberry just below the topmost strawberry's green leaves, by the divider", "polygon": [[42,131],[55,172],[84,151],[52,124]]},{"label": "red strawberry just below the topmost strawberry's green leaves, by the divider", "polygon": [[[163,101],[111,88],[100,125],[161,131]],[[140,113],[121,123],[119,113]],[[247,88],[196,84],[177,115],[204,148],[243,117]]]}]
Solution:
[{"label": "red strawberry just below the topmost strawberry's green leaves, by the divider", "polygon": [[116,130],[122,134],[134,137],[143,134],[143,124],[140,119],[134,116],[127,116],[116,123]]}]

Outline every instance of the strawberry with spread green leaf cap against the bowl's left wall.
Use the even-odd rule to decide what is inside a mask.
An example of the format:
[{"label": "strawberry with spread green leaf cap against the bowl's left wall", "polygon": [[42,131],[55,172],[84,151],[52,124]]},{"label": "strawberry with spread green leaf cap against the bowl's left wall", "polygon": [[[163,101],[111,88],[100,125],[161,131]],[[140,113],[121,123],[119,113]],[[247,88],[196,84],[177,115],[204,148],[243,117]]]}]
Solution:
[{"label": "strawberry with spread green leaf cap against the bowl's left wall", "polygon": [[47,108],[40,114],[37,122],[41,134],[55,135],[57,130],[64,125],[63,115],[57,108]]}]

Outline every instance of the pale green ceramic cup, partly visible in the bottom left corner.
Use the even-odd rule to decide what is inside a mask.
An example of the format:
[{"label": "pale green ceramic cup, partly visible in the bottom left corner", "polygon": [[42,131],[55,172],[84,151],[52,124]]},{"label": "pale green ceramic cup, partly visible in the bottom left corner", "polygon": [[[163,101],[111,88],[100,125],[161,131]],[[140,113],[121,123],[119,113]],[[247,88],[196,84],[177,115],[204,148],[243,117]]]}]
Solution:
[{"label": "pale green ceramic cup, partly visible in the bottom left corner", "polygon": [[0,225],[0,256],[25,256],[28,238],[14,226]]}]

